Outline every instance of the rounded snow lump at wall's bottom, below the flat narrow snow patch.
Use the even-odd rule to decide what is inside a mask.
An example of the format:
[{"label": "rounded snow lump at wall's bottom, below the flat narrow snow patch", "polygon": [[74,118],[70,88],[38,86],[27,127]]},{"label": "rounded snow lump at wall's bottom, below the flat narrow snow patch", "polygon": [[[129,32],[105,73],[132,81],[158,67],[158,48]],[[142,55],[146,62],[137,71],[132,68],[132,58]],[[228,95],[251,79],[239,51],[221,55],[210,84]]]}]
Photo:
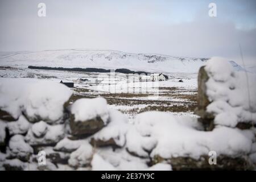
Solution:
[{"label": "rounded snow lump at wall's bottom, below the flat narrow snow patch", "polygon": [[92,157],[93,148],[89,143],[85,143],[71,153],[68,164],[73,167],[85,167],[90,164]]}]

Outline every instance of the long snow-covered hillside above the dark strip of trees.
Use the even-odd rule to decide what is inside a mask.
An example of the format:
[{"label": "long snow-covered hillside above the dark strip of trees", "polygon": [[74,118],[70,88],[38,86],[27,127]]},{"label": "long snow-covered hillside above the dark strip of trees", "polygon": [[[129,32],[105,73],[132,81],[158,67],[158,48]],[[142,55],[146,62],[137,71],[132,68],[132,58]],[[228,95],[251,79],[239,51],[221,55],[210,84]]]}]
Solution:
[{"label": "long snow-covered hillside above the dark strip of trees", "polygon": [[52,50],[39,52],[0,52],[0,66],[28,65],[65,68],[127,68],[147,72],[195,73],[208,59],[159,54],[102,50]]}]

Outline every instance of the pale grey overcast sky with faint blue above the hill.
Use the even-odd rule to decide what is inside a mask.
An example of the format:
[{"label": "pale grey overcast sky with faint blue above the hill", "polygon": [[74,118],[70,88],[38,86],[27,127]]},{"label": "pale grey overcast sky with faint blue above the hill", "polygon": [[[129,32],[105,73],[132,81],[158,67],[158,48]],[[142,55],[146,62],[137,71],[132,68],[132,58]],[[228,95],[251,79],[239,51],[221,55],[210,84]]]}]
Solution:
[{"label": "pale grey overcast sky with faint blue above the hill", "polygon": [[[38,3],[46,17],[38,16]],[[209,3],[217,17],[208,15]],[[256,61],[255,0],[0,0],[0,50],[113,49]]]}]

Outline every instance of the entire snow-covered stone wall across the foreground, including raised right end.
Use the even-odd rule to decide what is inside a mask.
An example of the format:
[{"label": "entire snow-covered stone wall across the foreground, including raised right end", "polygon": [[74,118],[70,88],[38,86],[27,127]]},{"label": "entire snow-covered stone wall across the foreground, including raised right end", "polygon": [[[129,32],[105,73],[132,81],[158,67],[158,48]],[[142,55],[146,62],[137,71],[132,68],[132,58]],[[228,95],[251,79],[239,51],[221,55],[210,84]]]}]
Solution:
[{"label": "entire snow-covered stone wall across the foreground, including raised right end", "polygon": [[256,92],[245,80],[254,75],[243,75],[210,60],[199,72],[199,119],[150,111],[133,121],[104,98],[69,104],[62,84],[0,79],[0,170],[254,169]]}]

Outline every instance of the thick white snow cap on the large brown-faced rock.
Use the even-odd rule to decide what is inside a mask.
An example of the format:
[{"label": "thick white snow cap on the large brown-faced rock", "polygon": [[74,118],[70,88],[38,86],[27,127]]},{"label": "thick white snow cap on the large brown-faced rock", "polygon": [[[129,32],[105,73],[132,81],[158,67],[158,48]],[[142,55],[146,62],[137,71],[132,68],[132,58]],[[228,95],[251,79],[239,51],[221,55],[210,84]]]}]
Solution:
[{"label": "thick white snow cap on the large brown-faced rock", "polygon": [[102,121],[108,123],[109,113],[105,98],[81,98],[71,106],[71,114],[75,115],[76,121],[87,121],[101,117]]}]

